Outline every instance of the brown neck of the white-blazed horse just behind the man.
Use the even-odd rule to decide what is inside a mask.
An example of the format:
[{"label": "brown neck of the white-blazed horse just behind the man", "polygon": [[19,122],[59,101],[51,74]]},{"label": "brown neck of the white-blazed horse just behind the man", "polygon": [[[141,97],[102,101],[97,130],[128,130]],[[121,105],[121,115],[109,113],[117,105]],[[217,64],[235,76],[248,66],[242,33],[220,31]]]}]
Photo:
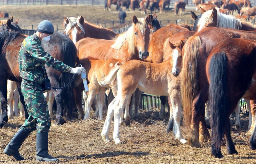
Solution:
[{"label": "brown neck of the white-blazed horse just behind the man", "polygon": [[83,28],[85,29],[86,37],[89,38],[113,40],[117,35],[110,30],[95,27],[85,22],[83,24]]}]

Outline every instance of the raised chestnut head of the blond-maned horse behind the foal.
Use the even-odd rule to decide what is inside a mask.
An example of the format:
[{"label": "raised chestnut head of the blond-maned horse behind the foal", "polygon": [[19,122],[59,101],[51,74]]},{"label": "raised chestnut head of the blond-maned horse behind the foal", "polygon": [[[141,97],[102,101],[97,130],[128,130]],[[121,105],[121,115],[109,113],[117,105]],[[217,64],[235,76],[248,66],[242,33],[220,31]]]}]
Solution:
[{"label": "raised chestnut head of the blond-maned horse behind the foal", "polygon": [[151,23],[151,16],[149,15],[146,19],[138,18],[133,16],[133,32],[134,32],[134,43],[137,45],[140,59],[146,59],[149,56],[148,46],[150,40],[150,29],[148,24]]}]

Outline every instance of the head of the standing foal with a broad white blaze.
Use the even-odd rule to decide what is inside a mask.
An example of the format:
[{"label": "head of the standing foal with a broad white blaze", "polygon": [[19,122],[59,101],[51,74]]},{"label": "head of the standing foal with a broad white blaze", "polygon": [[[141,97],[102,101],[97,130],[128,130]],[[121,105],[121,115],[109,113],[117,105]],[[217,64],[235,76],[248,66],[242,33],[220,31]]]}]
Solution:
[{"label": "head of the standing foal with a broad white blaze", "polygon": [[181,71],[181,65],[182,65],[182,48],[184,46],[184,41],[181,40],[178,43],[171,43],[169,41],[170,47],[173,49],[172,53],[172,59],[173,59],[173,68],[172,68],[172,74],[177,77],[180,74]]}]

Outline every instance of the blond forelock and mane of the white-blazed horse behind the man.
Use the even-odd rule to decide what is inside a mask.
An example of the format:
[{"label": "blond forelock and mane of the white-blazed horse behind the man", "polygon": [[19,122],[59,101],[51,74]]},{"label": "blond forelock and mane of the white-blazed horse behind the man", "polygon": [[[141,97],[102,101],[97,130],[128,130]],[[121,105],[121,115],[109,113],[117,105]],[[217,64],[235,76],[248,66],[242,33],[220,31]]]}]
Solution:
[{"label": "blond forelock and mane of the white-blazed horse behind the man", "polygon": [[[79,22],[79,17],[77,17],[77,18],[69,17],[68,19],[69,19],[69,23],[67,24],[67,26],[66,26],[66,28],[64,30],[65,34],[67,34],[68,31],[70,31],[73,27],[76,27],[76,26],[78,26],[83,31],[83,33],[85,33],[84,27]],[[98,29],[103,28],[102,26],[98,26],[98,25],[92,24],[90,22],[87,22],[86,20],[84,20],[84,23],[86,23],[88,25],[91,25],[91,26],[93,26],[95,28],[98,28]]]}]

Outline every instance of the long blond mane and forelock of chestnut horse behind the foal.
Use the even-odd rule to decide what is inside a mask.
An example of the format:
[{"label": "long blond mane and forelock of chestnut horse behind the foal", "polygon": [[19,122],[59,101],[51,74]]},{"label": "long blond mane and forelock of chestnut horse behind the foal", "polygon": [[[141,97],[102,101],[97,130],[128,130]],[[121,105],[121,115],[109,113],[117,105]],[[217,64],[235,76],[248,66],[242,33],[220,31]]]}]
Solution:
[{"label": "long blond mane and forelock of chestnut horse behind the foal", "polygon": [[134,54],[136,52],[136,47],[134,43],[134,28],[138,27],[139,31],[146,32],[147,22],[144,18],[138,18],[138,23],[134,24],[124,33],[119,34],[114,42],[111,45],[111,48],[119,50],[124,44],[128,46],[128,52]]}]

